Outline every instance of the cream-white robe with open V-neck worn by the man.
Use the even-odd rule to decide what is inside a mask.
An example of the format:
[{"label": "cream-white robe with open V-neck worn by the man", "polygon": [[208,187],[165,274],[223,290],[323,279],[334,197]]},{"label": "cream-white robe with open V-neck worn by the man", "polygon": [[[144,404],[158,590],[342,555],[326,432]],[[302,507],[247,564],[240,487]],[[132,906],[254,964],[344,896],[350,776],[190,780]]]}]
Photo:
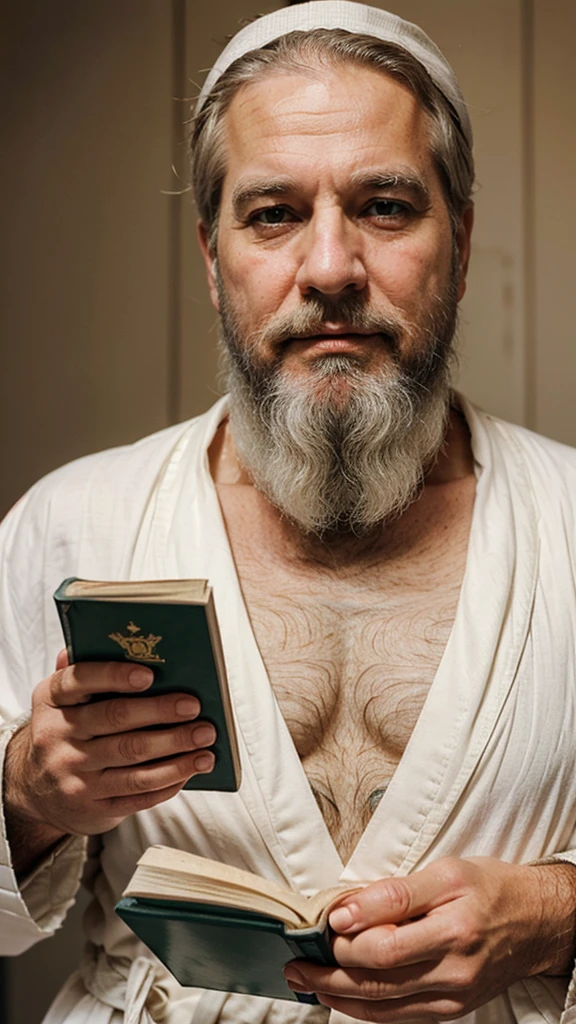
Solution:
[{"label": "cream-white robe with open V-neck worn by the man", "polygon": [[[45,1024],[326,1019],[322,1008],[175,985],[113,910],[152,843],[303,892],[404,874],[446,854],[517,862],[562,854],[576,863],[576,452],[463,408],[478,492],[454,626],[404,757],[346,865],[270,686],[208,471],[223,403],[57,470],[8,516],[0,542],[2,752],[63,646],[51,594],[65,577],[183,577],[214,587],[243,761],[239,794],[181,793],[90,843],[88,947]],[[83,859],[83,841],[69,840],[20,892],[2,823],[0,954],[58,927]],[[568,995],[567,987],[568,979],[522,981],[465,1020],[554,1024],[564,1010],[571,1024],[575,986]],[[344,1020],[331,1015],[331,1024]]]}]

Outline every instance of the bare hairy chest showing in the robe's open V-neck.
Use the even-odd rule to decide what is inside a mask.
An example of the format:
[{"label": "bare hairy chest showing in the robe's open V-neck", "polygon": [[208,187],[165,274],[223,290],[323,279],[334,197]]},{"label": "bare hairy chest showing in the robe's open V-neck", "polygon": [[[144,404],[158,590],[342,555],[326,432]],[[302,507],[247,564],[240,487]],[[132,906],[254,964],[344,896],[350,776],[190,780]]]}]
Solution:
[{"label": "bare hairy chest showing in the robe's open V-neck", "polygon": [[257,514],[246,517],[233,489],[223,488],[220,501],[254,635],[345,862],[398,767],[446,648],[468,521],[443,529],[442,545],[426,544],[418,557],[375,552],[360,565],[311,565],[279,557],[270,530]]}]

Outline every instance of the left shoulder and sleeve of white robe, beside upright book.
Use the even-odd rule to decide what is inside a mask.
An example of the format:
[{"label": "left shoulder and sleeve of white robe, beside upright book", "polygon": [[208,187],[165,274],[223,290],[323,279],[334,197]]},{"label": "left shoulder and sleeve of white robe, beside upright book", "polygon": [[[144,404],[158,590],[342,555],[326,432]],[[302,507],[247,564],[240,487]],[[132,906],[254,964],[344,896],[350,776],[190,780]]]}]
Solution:
[{"label": "left shoulder and sleeve of white robe, beside upright book", "polygon": [[[63,466],[0,524],[0,768],[34,687],[64,647],[54,590],[70,575],[124,578],[142,509],[181,432],[177,425]],[[65,840],[18,889],[2,813],[0,955],[24,951],[61,924],[84,859],[85,840]]]}]

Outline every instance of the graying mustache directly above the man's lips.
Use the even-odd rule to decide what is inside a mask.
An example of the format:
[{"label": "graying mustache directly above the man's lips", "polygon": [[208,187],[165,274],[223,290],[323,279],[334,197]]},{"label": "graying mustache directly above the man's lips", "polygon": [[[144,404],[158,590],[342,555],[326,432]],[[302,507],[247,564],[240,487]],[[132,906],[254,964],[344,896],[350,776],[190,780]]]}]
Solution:
[{"label": "graying mustache directly above the man's lips", "polygon": [[397,317],[371,309],[360,295],[340,296],[330,300],[325,296],[305,299],[292,312],[275,316],[251,338],[251,346],[260,344],[280,347],[294,338],[308,338],[326,333],[327,323],[342,324],[351,331],[381,334],[393,352],[398,349],[405,325]]}]

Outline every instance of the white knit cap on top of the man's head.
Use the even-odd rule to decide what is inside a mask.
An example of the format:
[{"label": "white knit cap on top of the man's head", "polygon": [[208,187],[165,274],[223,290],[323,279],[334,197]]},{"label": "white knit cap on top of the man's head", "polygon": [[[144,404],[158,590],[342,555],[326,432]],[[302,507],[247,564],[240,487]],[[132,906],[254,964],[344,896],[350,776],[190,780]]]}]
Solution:
[{"label": "white knit cap on top of the man's head", "polygon": [[425,68],[435,85],[452,105],[462,132],[471,146],[470,119],[456,76],[444,54],[417,25],[405,22],[379,7],[368,7],[353,0],[311,0],[292,7],[282,7],[241,29],[231,39],[208,74],[197,110],[224,71],[250,50],[259,49],[289,32],[310,32],[313,29],[344,29],[357,35],[375,36],[397,43],[408,50]]}]

